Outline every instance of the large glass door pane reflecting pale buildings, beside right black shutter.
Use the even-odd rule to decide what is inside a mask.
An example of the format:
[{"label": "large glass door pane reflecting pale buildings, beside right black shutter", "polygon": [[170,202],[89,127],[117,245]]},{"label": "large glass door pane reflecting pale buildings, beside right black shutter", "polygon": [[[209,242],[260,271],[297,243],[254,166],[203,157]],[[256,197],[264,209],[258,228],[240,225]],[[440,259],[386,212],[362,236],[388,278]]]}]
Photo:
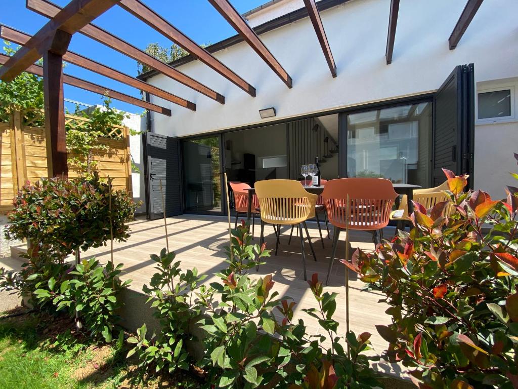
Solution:
[{"label": "large glass door pane reflecting pale buildings, beside right black shutter", "polygon": [[393,183],[430,185],[431,102],[346,117],[348,177],[382,177]]}]

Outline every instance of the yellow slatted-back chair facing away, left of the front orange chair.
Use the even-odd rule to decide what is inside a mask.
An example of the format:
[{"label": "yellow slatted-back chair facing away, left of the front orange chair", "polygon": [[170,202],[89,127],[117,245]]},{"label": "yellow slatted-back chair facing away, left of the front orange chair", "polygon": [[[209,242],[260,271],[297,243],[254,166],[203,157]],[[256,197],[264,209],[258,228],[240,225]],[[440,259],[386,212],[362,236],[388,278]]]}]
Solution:
[{"label": "yellow slatted-back chair facing away, left of the front orange chair", "polygon": [[[304,252],[304,235],[306,230],[311,253],[316,261],[315,252],[309,237],[306,220],[315,217],[317,195],[307,192],[299,182],[290,179],[270,179],[255,183],[255,194],[261,210],[261,242],[264,242],[265,223],[277,226],[275,254],[279,246],[280,226],[298,226],[300,232],[300,249],[306,280],[306,254]],[[259,266],[257,266],[257,269]]]}]

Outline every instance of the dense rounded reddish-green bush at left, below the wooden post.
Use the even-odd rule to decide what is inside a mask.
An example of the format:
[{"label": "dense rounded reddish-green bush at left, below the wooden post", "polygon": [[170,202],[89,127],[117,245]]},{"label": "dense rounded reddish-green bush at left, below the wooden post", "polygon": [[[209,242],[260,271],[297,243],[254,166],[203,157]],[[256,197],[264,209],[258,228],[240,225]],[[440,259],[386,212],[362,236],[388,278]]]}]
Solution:
[{"label": "dense rounded reddish-green bush at left, below the wooden post", "polygon": [[42,178],[26,185],[13,201],[9,213],[9,239],[31,239],[61,256],[77,248],[106,245],[110,239],[125,241],[136,205],[124,191],[113,191],[94,172],[92,179]]}]

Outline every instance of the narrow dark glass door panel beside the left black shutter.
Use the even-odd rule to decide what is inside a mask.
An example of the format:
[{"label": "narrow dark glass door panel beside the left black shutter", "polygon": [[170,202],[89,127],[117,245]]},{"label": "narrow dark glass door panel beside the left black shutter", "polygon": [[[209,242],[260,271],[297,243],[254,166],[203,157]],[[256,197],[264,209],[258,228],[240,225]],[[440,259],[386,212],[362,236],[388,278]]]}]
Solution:
[{"label": "narrow dark glass door panel beside the left black shutter", "polygon": [[222,213],[220,135],[183,141],[186,213]]}]

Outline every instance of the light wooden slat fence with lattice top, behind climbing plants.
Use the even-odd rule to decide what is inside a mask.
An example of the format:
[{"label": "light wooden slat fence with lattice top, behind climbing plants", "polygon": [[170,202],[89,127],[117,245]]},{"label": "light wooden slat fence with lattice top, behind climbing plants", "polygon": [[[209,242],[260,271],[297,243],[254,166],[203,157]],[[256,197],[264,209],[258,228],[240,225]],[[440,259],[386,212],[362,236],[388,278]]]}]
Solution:
[{"label": "light wooden slat fence with lattice top, behind climbing plants", "polygon": [[[65,115],[66,125],[74,128],[87,118]],[[38,127],[44,122],[42,113],[15,111],[10,121],[0,122],[0,212],[12,209],[12,199],[27,181],[35,183],[47,177],[46,131]],[[99,144],[108,145],[108,150],[94,151],[99,176],[113,178],[113,189],[132,191],[131,154],[129,129],[114,126]],[[69,166],[70,178],[81,172]]]}]

